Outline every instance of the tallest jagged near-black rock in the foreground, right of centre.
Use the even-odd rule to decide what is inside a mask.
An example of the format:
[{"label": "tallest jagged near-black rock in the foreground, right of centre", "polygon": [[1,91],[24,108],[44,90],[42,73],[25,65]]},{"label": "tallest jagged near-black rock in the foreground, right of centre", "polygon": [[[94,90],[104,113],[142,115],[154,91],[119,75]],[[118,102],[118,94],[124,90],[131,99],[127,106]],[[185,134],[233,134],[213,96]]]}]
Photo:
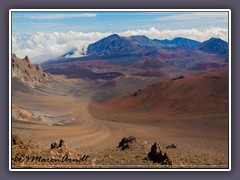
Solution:
[{"label": "tallest jagged near-black rock in the foreground, right of centre", "polygon": [[151,151],[148,153],[148,158],[153,162],[162,164],[162,165],[172,165],[171,160],[166,153],[162,153],[160,146],[157,143],[154,143],[151,147]]}]

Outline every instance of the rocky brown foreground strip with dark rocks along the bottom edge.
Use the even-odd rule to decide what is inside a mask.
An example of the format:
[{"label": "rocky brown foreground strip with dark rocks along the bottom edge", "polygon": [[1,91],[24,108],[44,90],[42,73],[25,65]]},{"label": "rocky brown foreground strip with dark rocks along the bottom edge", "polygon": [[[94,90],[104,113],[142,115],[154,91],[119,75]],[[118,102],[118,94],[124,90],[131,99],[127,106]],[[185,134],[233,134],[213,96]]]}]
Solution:
[{"label": "rocky brown foreground strip with dark rocks along the bottom edge", "polygon": [[[24,143],[20,138],[23,138]],[[222,155],[216,156],[216,159],[208,153],[199,154],[199,151],[188,151],[180,146],[179,151],[167,151],[174,158],[174,165],[171,166],[169,156],[161,151],[158,144],[152,145],[134,137],[125,137],[121,141],[120,145],[129,144],[130,149],[126,151],[116,147],[89,151],[85,147],[70,148],[71,146],[64,150],[66,145],[63,139],[53,143],[54,148],[49,148],[45,145],[38,146],[31,140],[25,143],[28,137],[24,134],[20,138],[17,134],[12,136],[11,159],[14,168],[216,168],[217,163],[218,168],[226,169],[228,166],[227,157],[226,161]],[[48,140],[43,138],[41,144],[45,141]],[[151,151],[147,153],[150,148]]]}]

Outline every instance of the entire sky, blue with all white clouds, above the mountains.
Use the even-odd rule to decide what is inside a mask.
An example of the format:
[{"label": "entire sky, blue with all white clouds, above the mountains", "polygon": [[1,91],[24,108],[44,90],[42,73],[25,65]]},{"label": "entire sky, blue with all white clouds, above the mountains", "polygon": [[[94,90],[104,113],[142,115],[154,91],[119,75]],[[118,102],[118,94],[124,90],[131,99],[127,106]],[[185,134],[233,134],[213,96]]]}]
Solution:
[{"label": "entire sky, blue with all white clouds, above the mountains", "polygon": [[[150,39],[228,40],[228,12],[12,12],[12,51],[33,63],[117,33]],[[73,56],[79,56],[78,51]]]}]

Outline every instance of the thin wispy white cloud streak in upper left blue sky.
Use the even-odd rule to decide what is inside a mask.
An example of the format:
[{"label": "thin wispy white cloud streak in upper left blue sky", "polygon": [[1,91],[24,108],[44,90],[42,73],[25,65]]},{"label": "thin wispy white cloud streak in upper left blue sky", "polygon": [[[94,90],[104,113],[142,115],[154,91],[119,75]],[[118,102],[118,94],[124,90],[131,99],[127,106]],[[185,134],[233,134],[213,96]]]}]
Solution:
[{"label": "thin wispy white cloud streak in upper left blue sky", "polygon": [[94,13],[83,14],[15,14],[14,18],[28,18],[28,19],[63,19],[63,18],[82,18],[82,17],[96,17]]}]

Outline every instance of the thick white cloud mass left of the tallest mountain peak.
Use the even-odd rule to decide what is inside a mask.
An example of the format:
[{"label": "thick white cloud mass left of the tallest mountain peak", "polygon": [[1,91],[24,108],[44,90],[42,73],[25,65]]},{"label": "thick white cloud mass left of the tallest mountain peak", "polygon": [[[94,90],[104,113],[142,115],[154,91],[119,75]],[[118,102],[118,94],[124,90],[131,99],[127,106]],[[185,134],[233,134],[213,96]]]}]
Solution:
[{"label": "thick white cloud mass left of the tallest mountain peak", "polygon": [[59,57],[64,53],[77,48],[86,48],[108,33],[82,32],[38,32],[18,33],[12,36],[12,52],[19,57],[28,55],[33,63],[42,63],[51,58]]}]

